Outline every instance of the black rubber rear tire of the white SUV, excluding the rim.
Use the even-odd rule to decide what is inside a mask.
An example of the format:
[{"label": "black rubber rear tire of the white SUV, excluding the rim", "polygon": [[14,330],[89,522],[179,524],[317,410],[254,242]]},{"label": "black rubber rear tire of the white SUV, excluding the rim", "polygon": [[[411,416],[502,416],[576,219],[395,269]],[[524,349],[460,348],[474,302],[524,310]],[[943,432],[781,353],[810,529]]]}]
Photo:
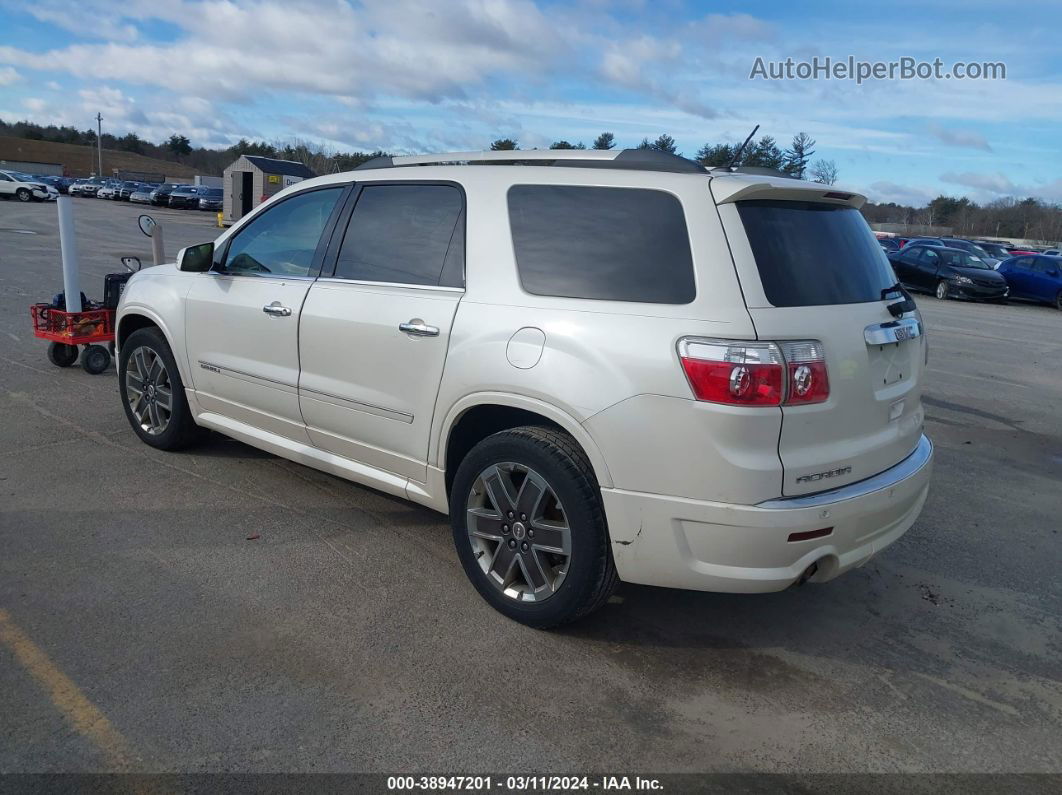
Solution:
[{"label": "black rubber rear tire of the white SUV, excluding the rim", "polygon": [[[503,463],[534,470],[564,506],[571,553],[560,585],[541,601],[521,602],[502,592],[483,571],[468,536],[473,485],[484,470]],[[496,610],[528,626],[545,629],[581,619],[602,607],[619,581],[597,478],[575,439],[556,429],[525,426],[476,445],[453,478],[450,524],[458,557],[476,590]]]}]

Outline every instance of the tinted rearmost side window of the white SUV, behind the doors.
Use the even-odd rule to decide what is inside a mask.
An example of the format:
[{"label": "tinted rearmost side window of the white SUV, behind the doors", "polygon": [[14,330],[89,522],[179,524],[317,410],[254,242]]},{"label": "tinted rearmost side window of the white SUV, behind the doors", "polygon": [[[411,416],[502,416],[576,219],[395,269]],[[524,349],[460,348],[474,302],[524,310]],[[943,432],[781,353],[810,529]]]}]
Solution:
[{"label": "tinted rearmost side window of the white SUV, behind the doors", "polygon": [[509,223],[520,284],[534,295],[689,304],[697,293],[686,220],[670,193],[516,185]]}]

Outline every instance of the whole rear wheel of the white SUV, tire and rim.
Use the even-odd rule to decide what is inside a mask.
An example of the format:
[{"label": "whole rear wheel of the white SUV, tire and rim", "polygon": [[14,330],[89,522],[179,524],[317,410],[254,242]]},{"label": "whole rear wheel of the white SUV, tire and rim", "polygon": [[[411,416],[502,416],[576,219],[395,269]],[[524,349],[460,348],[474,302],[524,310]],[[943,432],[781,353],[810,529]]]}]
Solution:
[{"label": "whole rear wheel of the white SUV, tire and rim", "polygon": [[527,426],[480,442],[453,478],[450,523],[476,590],[528,626],[587,616],[618,582],[600,487],[562,431]]}]

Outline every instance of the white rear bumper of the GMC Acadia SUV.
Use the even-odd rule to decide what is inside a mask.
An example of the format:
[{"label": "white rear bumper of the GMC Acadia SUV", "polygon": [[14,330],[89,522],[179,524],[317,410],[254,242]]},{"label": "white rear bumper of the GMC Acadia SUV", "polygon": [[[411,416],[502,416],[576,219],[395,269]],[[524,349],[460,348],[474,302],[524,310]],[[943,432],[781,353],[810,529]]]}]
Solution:
[{"label": "white rear bumper of the GMC Acadia SUV", "polygon": [[[733,505],[602,489],[620,578],[691,590],[783,590],[861,566],[907,532],[929,492],[932,444],[859,483],[817,495]],[[790,541],[793,533],[829,535]],[[630,539],[630,540],[615,540]]]}]

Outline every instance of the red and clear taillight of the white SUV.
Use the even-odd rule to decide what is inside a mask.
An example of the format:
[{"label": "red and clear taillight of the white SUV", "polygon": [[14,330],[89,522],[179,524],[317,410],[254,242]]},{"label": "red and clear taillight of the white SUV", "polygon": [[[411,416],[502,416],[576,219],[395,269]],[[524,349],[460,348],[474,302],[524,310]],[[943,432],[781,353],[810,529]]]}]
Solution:
[{"label": "red and clear taillight of the white SUV", "polygon": [[829,397],[822,343],[684,338],[679,358],[698,400],[730,405],[800,405]]}]

